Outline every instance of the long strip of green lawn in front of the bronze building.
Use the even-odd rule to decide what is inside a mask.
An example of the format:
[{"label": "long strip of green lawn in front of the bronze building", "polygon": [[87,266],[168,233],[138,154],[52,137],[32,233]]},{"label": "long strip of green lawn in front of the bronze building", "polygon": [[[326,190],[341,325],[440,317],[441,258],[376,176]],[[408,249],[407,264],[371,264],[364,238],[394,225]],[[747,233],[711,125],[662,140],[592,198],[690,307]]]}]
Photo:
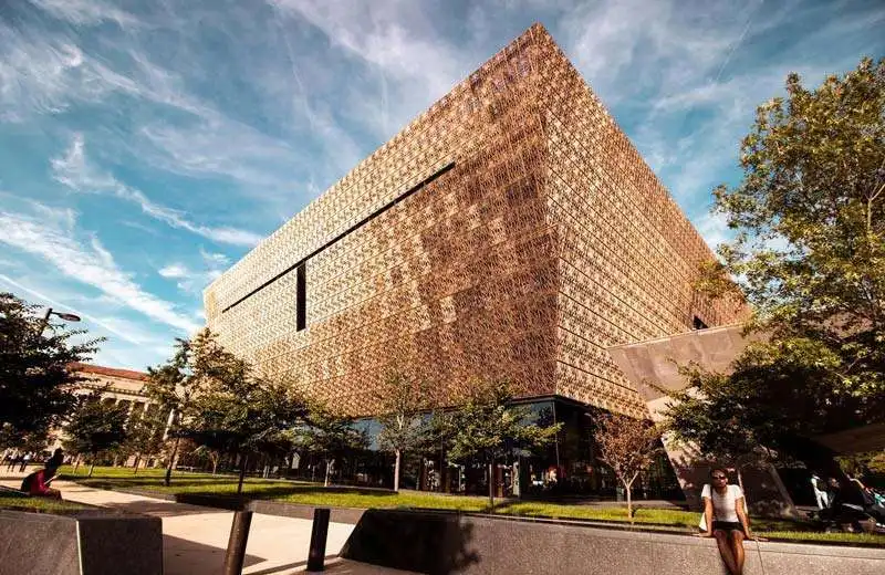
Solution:
[{"label": "long strip of green lawn in front of the bronze building", "polygon": [[[133,474],[132,469],[95,468],[93,477],[86,479],[87,468],[81,468],[73,475],[70,467],[62,468],[64,479],[73,479],[81,483],[107,489],[138,489],[162,493],[199,493],[199,494],[236,494],[237,478],[235,475],[208,473],[176,472],[171,485],[163,485],[163,469],[139,470]],[[252,499],[288,501],[304,505],[329,505],[337,508],[383,509],[438,509],[465,512],[486,512],[519,516],[574,519],[604,522],[627,522],[623,506],[598,506],[534,501],[502,500],[489,509],[488,499],[481,496],[444,495],[438,493],[420,493],[360,489],[360,488],[323,488],[317,483],[299,481],[280,481],[248,478],[243,484],[243,493]],[[696,531],[699,515],[696,512],[671,509],[638,509],[634,522],[643,525],[659,525],[685,531]],[[819,533],[811,531],[813,524],[787,521],[753,519],[753,531],[769,539],[790,541],[842,542],[885,546],[885,535],[855,535],[851,533]]]}]

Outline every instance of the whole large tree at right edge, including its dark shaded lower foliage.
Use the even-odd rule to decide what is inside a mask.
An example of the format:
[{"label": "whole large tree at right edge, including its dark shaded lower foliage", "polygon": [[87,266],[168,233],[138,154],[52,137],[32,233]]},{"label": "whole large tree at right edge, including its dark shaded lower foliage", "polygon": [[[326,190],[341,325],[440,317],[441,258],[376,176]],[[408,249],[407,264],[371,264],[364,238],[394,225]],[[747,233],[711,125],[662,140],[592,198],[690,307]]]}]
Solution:
[{"label": "whole large tree at right edge, including its dark shaded lower foliage", "polygon": [[[737,237],[707,271],[737,279],[748,331],[767,337],[729,375],[694,369],[700,393],[680,397],[670,427],[699,445],[736,433],[851,492],[812,438],[885,418],[885,60],[815,90],[790,74],[787,97],[758,108],[741,166],[714,192]],[[727,283],[699,286],[733,294]]]}]

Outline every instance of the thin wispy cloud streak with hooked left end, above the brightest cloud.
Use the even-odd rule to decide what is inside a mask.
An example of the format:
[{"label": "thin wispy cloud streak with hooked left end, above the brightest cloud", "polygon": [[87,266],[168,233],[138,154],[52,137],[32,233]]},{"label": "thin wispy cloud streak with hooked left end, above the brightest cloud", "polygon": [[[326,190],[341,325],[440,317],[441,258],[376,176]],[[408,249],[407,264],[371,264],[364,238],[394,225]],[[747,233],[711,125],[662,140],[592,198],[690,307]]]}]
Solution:
[{"label": "thin wispy cloud streak with hooked left end, above the brightest cloud", "polygon": [[65,153],[53,158],[51,164],[53,177],[65,186],[79,191],[112,194],[117,198],[136,203],[147,216],[174,228],[235,245],[254,245],[261,240],[259,234],[246,230],[212,228],[195,223],[187,219],[181,211],[162,206],[150,200],[140,190],[126,186],[111,174],[101,171],[87,160],[82,134],[75,134]]}]

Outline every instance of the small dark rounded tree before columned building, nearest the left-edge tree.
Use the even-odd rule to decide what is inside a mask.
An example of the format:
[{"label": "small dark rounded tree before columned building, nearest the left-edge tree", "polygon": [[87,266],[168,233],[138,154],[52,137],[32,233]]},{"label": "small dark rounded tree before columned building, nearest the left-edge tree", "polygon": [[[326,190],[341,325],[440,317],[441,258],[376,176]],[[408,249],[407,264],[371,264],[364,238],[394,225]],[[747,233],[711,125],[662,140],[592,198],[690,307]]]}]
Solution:
[{"label": "small dark rounded tree before columned building, nearest the left-edge tree", "polygon": [[64,429],[67,436],[63,441],[64,449],[72,454],[87,457],[90,477],[100,454],[113,451],[126,441],[127,409],[117,404],[103,402],[101,397],[100,391],[82,396]]}]

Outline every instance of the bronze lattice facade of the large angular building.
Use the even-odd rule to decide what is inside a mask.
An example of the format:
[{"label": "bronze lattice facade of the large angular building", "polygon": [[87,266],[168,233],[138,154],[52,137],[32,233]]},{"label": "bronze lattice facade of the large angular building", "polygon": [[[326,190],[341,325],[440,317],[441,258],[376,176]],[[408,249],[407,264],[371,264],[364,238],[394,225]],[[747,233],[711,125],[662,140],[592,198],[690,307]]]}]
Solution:
[{"label": "bronze lattice facade of the large angular building", "polygon": [[206,315],[354,416],[394,358],[450,404],[506,378],[638,416],[605,348],[733,321],[691,289],[711,257],[535,24],[216,280]]}]

